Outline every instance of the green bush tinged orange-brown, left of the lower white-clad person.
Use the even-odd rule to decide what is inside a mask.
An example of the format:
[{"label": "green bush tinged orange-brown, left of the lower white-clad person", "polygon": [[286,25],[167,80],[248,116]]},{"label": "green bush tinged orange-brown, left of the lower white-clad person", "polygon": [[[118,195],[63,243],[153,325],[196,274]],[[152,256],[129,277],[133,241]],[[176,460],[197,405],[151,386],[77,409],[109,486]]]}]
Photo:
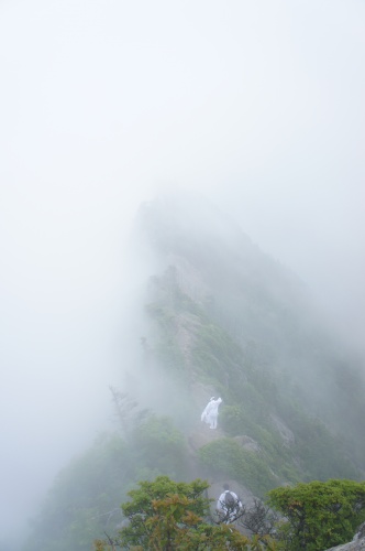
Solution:
[{"label": "green bush tinged orange-brown, left of the lower white-clad person", "polygon": [[[209,500],[204,497],[208,483],[196,479],[176,483],[166,476],[154,482],[140,482],[131,490],[130,501],[122,505],[129,526],[119,538],[109,542],[115,549],[136,550],[261,550],[259,541],[250,542],[234,527],[207,522]],[[95,542],[97,551],[112,549],[108,542]],[[267,549],[267,548],[266,548]],[[268,549],[274,549],[270,547]]]}]

